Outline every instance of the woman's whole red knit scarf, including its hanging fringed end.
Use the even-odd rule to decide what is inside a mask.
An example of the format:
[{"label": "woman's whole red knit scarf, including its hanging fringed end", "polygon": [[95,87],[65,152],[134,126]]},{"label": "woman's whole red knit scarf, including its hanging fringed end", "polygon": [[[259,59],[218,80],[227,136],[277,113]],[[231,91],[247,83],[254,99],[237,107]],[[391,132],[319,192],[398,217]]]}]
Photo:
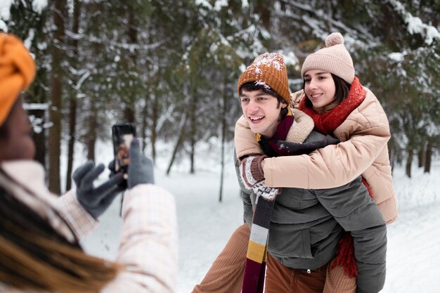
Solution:
[{"label": "woman's whole red knit scarf, including its hanging fringed end", "polygon": [[[333,134],[333,131],[349,117],[351,112],[361,105],[363,100],[365,100],[365,91],[359,79],[355,77],[350,87],[349,96],[332,110],[322,114],[317,113],[313,108],[306,105],[305,95],[299,102],[299,110],[302,110],[313,119],[316,131],[321,134]],[[370,196],[373,197],[368,183],[364,178],[362,178],[362,181],[367,187]],[[353,237],[351,237],[350,233],[346,232],[344,236],[339,239],[336,255],[336,259],[332,263],[332,269],[336,266],[342,266],[345,273],[351,278],[358,275],[356,259],[354,258]]]}]

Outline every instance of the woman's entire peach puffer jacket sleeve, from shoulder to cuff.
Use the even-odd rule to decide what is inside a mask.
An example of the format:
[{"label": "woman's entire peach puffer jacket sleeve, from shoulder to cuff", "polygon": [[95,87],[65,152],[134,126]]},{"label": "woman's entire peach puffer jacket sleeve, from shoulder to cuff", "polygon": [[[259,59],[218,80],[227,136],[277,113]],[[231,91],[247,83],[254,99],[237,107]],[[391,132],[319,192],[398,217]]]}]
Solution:
[{"label": "woman's entire peach puffer jacket sleeve, from shoulder to cuff", "polygon": [[309,155],[264,159],[264,183],[271,187],[335,188],[363,174],[391,138],[387,117],[372,95],[335,130],[342,143]]}]

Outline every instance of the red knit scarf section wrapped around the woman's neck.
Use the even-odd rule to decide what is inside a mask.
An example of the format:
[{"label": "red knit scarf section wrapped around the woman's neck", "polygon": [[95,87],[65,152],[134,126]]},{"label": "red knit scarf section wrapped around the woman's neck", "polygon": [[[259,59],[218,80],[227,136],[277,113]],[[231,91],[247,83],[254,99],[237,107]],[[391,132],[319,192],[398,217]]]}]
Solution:
[{"label": "red knit scarf section wrapped around the woman's neck", "polygon": [[306,105],[305,95],[299,102],[299,110],[302,110],[313,119],[316,131],[321,134],[333,134],[333,131],[347,119],[353,110],[361,105],[363,100],[365,100],[365,91],[363,91],[359,79],[355,77],[351,84],[349,96],[332,110],[323,114],[317,113],[313,108]]}]

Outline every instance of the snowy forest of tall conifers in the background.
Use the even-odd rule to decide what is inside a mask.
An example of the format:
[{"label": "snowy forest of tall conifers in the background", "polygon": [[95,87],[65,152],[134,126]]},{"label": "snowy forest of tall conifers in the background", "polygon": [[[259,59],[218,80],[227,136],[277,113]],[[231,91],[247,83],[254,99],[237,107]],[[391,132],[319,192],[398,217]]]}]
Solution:
[{"label": "snowy forest of tall conifers in the background", "polygon": [[37,159],[60,193],[75,152],[94,159],[115,122],[135,123],[153,159],[172,145],[168,173],[181,158],[194,173],[198,143],[233,138],[245,65],[280,52],[297,91],[304,58],[330,32],[344,35],[356,75],[387,112],[392,162],[408,177],[414,165],[429,172],[440,148],[439,11],[438,0],[0,0],[0,30],[37,62],[23,98]]}]

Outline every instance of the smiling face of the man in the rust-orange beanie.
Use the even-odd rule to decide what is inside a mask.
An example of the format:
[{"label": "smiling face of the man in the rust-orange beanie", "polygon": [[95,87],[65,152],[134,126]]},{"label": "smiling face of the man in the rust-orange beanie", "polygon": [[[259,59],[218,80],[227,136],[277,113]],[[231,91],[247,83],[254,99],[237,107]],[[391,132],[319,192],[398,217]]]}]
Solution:
[{"label": "smiling face of the man in the rust-orange beanie", "polygon": [[281,108],[285,108],[287,104],[280,103],[279,106],[277,98],[261,89],[258,91],[243,89],[240,101],[243,115],[249,122],[252,132],[271,138],[278,126]]}]

